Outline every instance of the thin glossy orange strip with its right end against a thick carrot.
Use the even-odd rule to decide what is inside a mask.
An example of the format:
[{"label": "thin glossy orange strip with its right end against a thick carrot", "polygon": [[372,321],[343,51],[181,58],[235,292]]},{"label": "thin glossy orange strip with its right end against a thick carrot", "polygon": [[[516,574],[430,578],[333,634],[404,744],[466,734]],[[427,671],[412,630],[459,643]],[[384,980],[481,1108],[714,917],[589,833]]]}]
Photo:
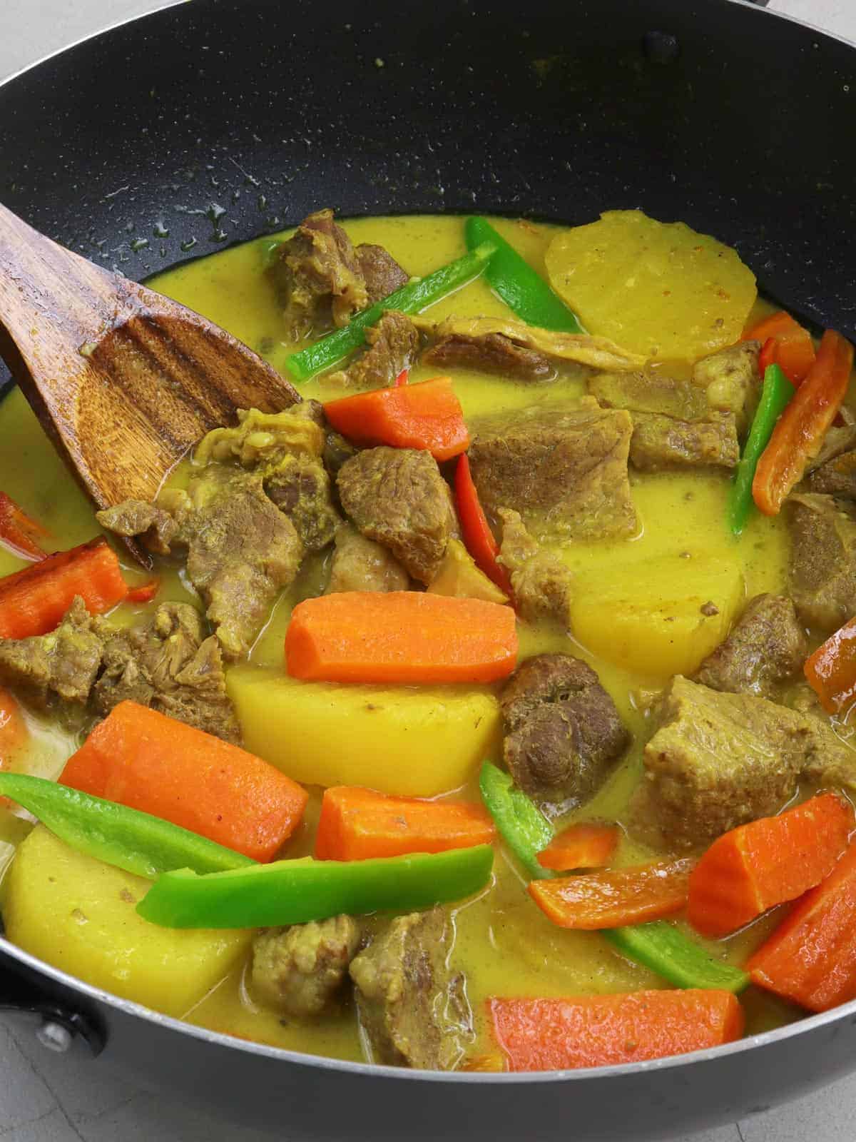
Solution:
[{"label": "thin glossy orange strip with its right end against a thick carrot", "polygon": [[528,893],[559,927],[595,930],[643,924],[684,908],[693,864],[685,856],[608,872],[533,880]]}]

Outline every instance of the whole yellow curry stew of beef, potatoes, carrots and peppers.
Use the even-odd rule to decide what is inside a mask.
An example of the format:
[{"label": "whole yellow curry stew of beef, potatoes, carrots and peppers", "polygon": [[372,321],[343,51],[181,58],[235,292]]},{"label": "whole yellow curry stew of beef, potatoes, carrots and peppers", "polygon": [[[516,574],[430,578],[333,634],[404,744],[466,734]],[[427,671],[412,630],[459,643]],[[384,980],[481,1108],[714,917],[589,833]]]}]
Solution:
[{"label": "whole yellow curry stew of beef, potatoes, carrots and peppers", "polygon": [[97,518],[0,407],[9,939],[430,1069],[856,997],[851,346],[639,211],[318,210],[155,284],[304,400]]}]

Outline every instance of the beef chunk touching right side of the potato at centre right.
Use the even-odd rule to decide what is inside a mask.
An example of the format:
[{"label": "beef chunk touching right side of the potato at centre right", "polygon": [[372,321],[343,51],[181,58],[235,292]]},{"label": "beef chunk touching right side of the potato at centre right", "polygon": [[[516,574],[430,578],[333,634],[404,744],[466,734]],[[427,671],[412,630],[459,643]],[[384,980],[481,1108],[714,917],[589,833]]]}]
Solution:
[{"label": "beef chunk touching right side of the potato at centre right", "polygon": [[806,636],[785,595],[756,595],[725,642],[698,667],[696,682],[711,690],[773,698],[806,659]]}]

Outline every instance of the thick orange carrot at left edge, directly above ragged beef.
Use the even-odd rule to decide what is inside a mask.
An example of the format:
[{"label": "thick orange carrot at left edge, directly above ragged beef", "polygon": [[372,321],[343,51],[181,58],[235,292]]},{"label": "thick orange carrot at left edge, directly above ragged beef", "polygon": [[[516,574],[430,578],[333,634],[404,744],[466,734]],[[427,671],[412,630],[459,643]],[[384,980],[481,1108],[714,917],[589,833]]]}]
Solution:
[{"label": "thick orange carrot at left edge, directly above ragged beef", "polygon": [[90,539],[0,579],[0,638],[47,634],[75,595],[90,614],[100,614],[127,594],[115,553],[104,537]]}]

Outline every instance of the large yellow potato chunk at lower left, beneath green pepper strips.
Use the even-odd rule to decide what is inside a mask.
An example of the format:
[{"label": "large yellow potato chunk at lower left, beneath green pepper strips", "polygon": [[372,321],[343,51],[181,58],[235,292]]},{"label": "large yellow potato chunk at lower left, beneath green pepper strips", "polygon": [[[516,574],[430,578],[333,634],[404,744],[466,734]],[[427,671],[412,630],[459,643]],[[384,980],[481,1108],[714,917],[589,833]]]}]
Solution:
[{"label": "large yellow potato chunk at lower left, beneath green pepper strips", "polygon": [[224,979],[252,932],[150,924],[136,911],[150,887],[40,825],[18,847],[3,885],[6,934],[87,983],[181,1016]]}]

